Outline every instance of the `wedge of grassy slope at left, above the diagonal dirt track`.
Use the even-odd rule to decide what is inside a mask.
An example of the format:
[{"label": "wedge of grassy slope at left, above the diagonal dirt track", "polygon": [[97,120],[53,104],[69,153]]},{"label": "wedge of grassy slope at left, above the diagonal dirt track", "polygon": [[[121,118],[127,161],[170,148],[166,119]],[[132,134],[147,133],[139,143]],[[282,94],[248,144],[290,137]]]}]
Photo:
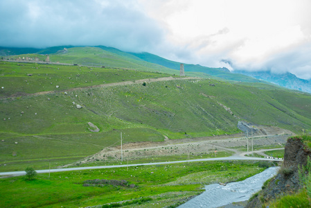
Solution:
[{"label": "wedge of grassy slope at left, above the diagonal dirt track", "polygon": [[[0,62],[0,98],[37,92],[64,92],[78,87],[123,83],[168,76],[130,69],[107,69],[57,64]],[[56,87],[59,86],[59,87]]]}]

